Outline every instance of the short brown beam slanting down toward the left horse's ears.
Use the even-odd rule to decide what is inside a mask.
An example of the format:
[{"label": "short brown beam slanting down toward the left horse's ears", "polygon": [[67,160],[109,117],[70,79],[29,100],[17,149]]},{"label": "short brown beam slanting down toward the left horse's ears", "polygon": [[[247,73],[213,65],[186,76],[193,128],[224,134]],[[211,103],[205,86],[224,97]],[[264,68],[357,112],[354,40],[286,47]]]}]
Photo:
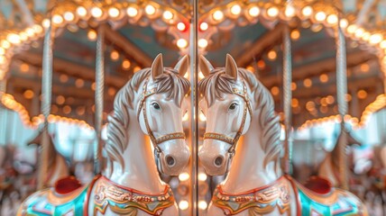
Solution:
[{"label": "short brown beam slanting down toward the left horse's ears", "polygon": [[124,35],[118,31],[114,31],[108,25],[104,25],[106,32],[106,41],[112,43],[114,46],[119,47],[124,51],[126,55],[133,58],[142,67],[151,67],[152,58],[139,49],[132,41],[128,40]]}]

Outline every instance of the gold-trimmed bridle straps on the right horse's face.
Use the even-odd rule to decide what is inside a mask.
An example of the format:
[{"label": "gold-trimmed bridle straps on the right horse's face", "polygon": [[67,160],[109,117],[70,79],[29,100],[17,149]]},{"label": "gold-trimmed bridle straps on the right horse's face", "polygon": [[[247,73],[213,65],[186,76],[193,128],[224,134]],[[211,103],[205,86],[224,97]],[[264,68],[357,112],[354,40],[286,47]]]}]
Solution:
[{"label": "gold-trimmed bridle straps on the right horse's face", "polygon": [[239,130],[237,130],[236,135],[234,136],[234,138],[230,138],[230,137],[226,136],[225,134],[216,133],[216,132],[206,132],[204,134],[204,139],[217,139],[217,140],[224,141],[224,142],[231,145],[231,147],[228,149],[228,152],[227,152],[229,159],[228,159],[228,162],[226,165],[226,171],[228,171],[229,166],[230,166],[230,162],[231,162],[232,158],[234,157],[237,142],[243,134],[245,121],[246,121],[246,117],[247,117],[247,112],[249,112],[249,114],[251,115],[251,121],[252,121],[252,113],[253,113],[251,101],[248,98],[248,93],[247,93],[247,89],[246,89],[245,84],[243,83],[243,90],[234,86],[232,88],[232,92],[234,94],[241,96],[244,99],[243,119],[242,119]]}]

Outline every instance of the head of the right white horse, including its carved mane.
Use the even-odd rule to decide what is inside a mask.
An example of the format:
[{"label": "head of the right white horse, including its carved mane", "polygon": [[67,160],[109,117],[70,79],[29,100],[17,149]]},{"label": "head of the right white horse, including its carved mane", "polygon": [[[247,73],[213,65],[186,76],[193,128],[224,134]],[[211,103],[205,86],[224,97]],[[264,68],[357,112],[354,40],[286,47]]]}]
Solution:
[{"label": "head of the right white horse, including its carved mane", "polygon": [[237,68],[229,54],[226,55],[225,67],[214,68],[204,57],[199,63],[206,76],[198,87],[205,98],[199,106],[207,116],[207,129],[198,156],[207,173],[225,174],[237,142],[249,130],[254,115],[262,130],[264,164],[277,160],[280,155],[280,124],[268,90],[253,73]]}]

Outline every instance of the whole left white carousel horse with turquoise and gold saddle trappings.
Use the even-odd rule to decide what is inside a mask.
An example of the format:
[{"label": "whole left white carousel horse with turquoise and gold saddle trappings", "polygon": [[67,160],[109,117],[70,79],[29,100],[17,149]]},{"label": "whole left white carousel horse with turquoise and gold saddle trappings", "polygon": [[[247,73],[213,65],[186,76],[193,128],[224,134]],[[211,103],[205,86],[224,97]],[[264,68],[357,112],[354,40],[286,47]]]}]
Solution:
[{"label": "whole left white carousel horse with turquoise and gold saddle trappings", "polygon": [[103,174],[84,186],[72,180],[67,184],[71,192],[58,183],[55,190],[34,193],[18,215],[178,215],[170,186],[161,181],[154,157],[167,175],[179,174],[188,164],[181,109],[189,90],[183,77],[187,69],[188,57],[181,58],[175,68],[164,68],[160,54],[152,68],[136,72],[115,96]]}]

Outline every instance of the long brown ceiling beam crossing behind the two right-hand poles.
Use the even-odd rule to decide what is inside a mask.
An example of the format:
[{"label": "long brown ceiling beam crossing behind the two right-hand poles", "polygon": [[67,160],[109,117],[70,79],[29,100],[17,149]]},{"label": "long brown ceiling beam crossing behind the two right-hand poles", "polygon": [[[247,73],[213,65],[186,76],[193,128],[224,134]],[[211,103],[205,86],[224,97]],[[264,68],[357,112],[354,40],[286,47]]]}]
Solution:
[{"label": "long brown ceiling beam crossing behind the two right-hand poles", "polygon": [[[347,67],[360,65],[368,60],[377,58],[376,56],[367,53],[366,51],[356,51],[347,54]],[[295,67],[292,73],[292,80],[302,80],[308,77],[317,76],[322,73],[334,72],[336,69],[336,59],[327,58],[304,66]],[[279,78],[278,78],[279,77]],[[272,75],[262,78],[262,83],[270,87],[272,85],[280,85],[282,83],[281,76]]]}]

